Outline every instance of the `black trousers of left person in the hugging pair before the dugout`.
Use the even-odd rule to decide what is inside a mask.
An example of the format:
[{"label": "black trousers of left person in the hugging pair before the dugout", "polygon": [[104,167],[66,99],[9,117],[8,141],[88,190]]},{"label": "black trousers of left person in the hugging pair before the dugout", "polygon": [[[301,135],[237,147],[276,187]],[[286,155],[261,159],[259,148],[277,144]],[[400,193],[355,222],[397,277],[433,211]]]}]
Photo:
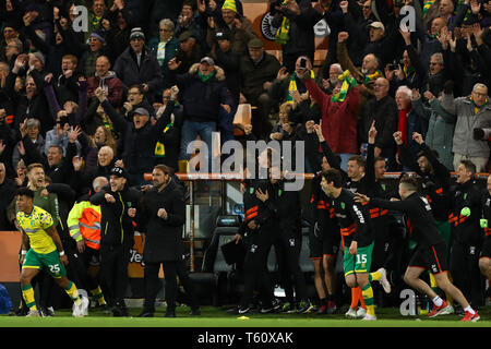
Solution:
[{"label": "black trousers of left person in the hugging pair before the dugout", "polygon": [[267,255],[273,245],[274,232],[267,229],[254,231],[243,261],[242,308],[252,303],[254,290],[259,290],[265,306],[273,302],[273,285],[267,270]]}]

